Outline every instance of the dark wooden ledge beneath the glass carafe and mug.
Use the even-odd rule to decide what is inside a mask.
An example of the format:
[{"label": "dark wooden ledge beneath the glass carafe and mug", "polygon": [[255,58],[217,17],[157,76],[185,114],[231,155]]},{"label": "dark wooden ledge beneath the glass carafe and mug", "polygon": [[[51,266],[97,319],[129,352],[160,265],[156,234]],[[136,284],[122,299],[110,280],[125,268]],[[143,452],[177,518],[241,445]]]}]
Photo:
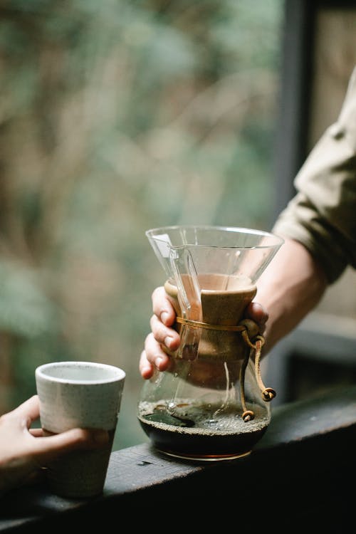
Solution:
[{"label": "dark wooden ledge beneath the glass carafe and mug", "polygon": [[61,530],[80,525],[80,532],[98,532],[103,518],[105,525],[114,521],[122,528],[125,517],[131,528],[179,509],[186,514],[194,506],[201,515],[201,505],[216,513],[231,507],[229,517],[239,516],[236,525],[245,520],[250,526],[252,520],[281,525],[284,517],[289,526],[315,520],[330,527],[335,520],[340,528],[350,511],[353,515],[356,387],[285,404],[272,413],[263,439],[243,459],[181,461],[141,444],[112,453],[99,498],[67,500],[48,493],[46,486],[12,491],[0,501],[0,531],[41,533],[53,532],[53,525]]}]

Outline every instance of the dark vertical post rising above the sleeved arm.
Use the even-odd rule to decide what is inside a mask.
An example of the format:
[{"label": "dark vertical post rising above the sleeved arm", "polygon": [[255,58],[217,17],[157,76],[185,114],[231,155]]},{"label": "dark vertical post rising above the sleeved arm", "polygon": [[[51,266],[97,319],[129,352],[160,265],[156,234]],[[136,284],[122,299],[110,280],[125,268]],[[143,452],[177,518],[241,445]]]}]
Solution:
[{"label": "dark vertical post rising above the sleeved arm", "polygon": [[293,179],[306,156],[314,14],[314,2],[285,0],[273,218],[293,196]]}]

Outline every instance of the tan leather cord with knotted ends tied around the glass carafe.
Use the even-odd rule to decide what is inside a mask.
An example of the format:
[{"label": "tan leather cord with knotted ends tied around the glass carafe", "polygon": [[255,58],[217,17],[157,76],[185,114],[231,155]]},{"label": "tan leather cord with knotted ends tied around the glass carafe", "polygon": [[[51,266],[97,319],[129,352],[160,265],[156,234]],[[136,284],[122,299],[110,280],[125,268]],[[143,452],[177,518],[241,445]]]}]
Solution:
[{"label": "tan leather cord with knotted ends tied around the glass carafe", "polygon": [[[180,323],[182,325],[187,325],[192,328],[206,328],[206,330],[225,330],[229,332],[241,332],[241,335],[244,339],[244,342],[248,347],[250,347],[252,350],[255,351],[255,375],[258,387],[260,388],[262,398],[266,402],[270,402],[274,397],[276,397],[276,392],[271,387],[266,387],[263,384],[262,377],[261,377],[261,350],[263,347],[263,344],[265,342],[264,337],[262,335],[256,335],[255,337],[255,343],[251,342],[250,338],[248,337],[248,329],[245,325],[211,325],[210,323],[202,323],[201,321],[195,321],[192,319],[184,319],[182,317],[176,318],[177,323]],[[242,408],[244,409],[244,413],[242,414],[242,419],[244,419],[244,422],[251,421],[254,419],[255,414],[248,410],[246,407],[246,399],[245,399],[245,372],[246,367],[248,364],[248,358],[249,355],[247,355],[246,358],[244,358],[244,362],[241,365],[240,368],[240,388],[241,388],[241,404]]]}]

